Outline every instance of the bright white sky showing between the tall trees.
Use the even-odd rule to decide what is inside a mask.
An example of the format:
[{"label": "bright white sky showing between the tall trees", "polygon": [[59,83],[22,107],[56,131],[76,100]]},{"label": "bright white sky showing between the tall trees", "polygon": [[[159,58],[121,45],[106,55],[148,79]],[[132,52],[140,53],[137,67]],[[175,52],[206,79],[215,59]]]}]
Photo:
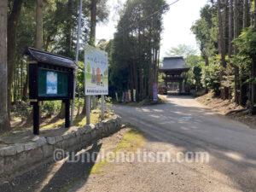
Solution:
[{"label": "bright white sky showing between the tall trees", "polygon": [[[108,0],[111,7],[107,24],[98,24],[96,26],[96,39],[113,38],[116,32],[118,15],[114,11],[117,2],[125,3],[126,0]],[[166,0],[167,3],[173,3],[175,0]],[[169,11],[164,15],[164,31],[161,34],[160,58],[166,56],[166,51],[178,44],[186,44],[198,49],[195,35],[190,28],[200,18],[200,9],[207,3],[207,0],[179,0],[174,3]]]}]

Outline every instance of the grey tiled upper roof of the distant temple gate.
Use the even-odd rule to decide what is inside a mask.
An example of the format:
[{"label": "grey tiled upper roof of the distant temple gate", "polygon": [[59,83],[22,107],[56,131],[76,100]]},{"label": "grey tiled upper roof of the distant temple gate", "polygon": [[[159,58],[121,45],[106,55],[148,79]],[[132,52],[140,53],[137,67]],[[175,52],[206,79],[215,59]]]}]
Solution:
[{"label": "grey tiled upper roof of the distant temple gate", "polygon": [[163,61],[163,67],[160,67],[160,71],[176,71],[182,70],[184,72],[189,71],[189,67],[186,66],[183,56],[165,57]]}]

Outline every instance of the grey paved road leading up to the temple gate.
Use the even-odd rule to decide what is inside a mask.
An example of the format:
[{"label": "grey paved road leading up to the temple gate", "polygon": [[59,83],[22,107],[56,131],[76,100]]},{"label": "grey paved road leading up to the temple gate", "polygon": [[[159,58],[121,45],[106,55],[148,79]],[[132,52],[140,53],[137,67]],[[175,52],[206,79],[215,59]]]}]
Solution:
[{"label": "grey paved road leading up to the temple gate", "polygon": [[[212,112],[189,96],[167,96],[166,104],[148,107],[113,108],[125,121],[144,131],[145,148],[149,150],[172,148],[172,152],[210,154],[209,163],[201,166],[151,165],[148,170],[142,166],[141,171],[137,166],[135,172],[161,170],[155,172],[156,176],[151,175],[148,183],[152,186],[158,183],[156,191],[256,191],[256,130]],[[171,170],[180,177],[172,177]],[[179,180],[183,183],[177,184]]]}]

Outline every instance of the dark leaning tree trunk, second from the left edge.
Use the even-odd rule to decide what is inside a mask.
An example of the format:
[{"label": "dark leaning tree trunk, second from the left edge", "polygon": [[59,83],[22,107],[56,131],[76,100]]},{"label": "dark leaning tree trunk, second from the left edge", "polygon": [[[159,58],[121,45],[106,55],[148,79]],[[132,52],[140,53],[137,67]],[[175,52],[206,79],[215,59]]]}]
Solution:
[{"label": "dark leaning tree trunk, second from the left edge", "polygon": [[[3,0],[2,0],[3,1]],[[7,44],[7,60],[8,60],[8,114],[10,119],[10,107],[12,102],[12,83],[13,71],[15,65],[15,49],[16,49],[16,29],[20,18],[20,10],[23,0],[15,0],[11,14],[8,19],[8,44]]]}]

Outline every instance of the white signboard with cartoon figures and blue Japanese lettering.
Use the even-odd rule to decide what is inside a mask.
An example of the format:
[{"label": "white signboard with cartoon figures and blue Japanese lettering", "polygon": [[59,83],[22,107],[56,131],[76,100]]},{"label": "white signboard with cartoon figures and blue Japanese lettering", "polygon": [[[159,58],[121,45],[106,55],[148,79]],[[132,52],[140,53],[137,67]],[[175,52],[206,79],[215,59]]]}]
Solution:
[{"label": "white signboard with cartoon figures and blue Japanese lettering", "polygon": [[85,45],[84,64],[85,95],[108,95],[108,53]]}]

